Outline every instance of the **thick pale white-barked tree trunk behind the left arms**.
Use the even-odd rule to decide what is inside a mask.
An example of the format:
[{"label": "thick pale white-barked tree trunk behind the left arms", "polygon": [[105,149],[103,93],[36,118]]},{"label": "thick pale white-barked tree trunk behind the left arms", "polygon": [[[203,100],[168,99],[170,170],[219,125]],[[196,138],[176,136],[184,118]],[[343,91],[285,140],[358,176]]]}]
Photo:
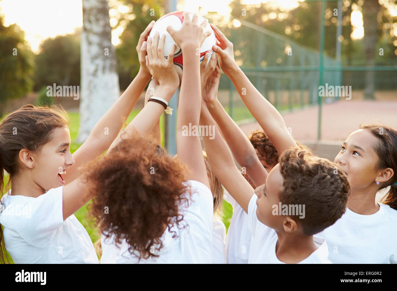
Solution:
[{"label": "thick pale white-barked tree trunk behind the left arms", "polygon": [[83,143],[96,122],[120,94],[116,53],[111,42],[107,0],[83,1],[81,33],[80,127],[77,142]]}]

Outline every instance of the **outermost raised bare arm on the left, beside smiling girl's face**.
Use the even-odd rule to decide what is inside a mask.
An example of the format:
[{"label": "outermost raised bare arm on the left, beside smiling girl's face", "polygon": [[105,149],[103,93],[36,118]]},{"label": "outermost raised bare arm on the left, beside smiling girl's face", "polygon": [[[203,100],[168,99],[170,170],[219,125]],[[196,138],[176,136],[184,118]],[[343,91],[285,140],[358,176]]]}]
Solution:
[{"label": "outermost raised bare arm on the left, beside smiling girl's face", "polygon": [[[149,82],[151,74],[145,65],[145,40],[152,29],[153,24],[154,21],[146,27],[145,31],[142,32],[139,38],[137,53],[141,67],[139,68],[137,76],[112,107],[110,107],[108,112],[98,120],[83,145],[73,153],[75,164],[69,167],[67,174],[63,176],[66,184],[70,183],[80,175],[78,171],[79,167],[98,157],[109,148],[137,103],[146,84]],[[108,134],[104,134],[105,128],[107,128],[106,133]]]}]

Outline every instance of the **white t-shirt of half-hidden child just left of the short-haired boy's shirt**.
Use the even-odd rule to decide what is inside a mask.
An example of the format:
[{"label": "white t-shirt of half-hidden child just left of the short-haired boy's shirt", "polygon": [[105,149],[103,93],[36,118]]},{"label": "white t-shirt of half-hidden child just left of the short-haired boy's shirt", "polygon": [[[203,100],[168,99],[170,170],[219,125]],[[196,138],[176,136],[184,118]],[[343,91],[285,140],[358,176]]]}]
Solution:
[{"label": "white t-shirt of half-hidden child just left of the short-haired boy's shirt", "polygon": [[247,264],[250,246],[254,242],[254,238],[248,230],[248,215],[226,190],[224,199],[233,207],[233,215],[225,242],[226,262],[227,264]]}]

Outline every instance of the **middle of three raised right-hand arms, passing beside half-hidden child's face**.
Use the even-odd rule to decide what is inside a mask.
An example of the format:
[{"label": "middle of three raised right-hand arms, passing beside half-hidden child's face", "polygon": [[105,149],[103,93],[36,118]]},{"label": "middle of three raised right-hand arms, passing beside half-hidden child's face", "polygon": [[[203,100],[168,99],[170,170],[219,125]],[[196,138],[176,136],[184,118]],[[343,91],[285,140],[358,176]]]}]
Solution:
[{"label": "middle of three raised right-hand arms, passing beside half-hidden child's face", "polygon": [[219,126],[237,163],[245,167],[252,183],[258,187],[266,182],[268,173],[256,155],[249,139],[247,139],[240,127],[235,124],[216,98],[221,72],[216,61],[216,54],[212,54],[210,63],[205,67],[207,58],[207,56],[204,57],[200,66],[203,100],[212,118]]}]

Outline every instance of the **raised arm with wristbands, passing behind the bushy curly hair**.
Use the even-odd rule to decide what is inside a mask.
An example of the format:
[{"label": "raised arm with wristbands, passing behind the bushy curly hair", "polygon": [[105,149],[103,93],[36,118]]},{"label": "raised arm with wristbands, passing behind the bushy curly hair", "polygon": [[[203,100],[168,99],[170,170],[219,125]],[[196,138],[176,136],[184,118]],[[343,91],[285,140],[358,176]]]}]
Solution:
[{"label": "raised arm with wristbands, passing behind the bushy curly hair", "polygon": [[[148,38],[146,65],[150,73],[159,82],[159,87],[154,94],[156,97],[161,97],[167,102],[170,101],[173,93],[179,85],[179,77],[173,66],[173,54],[175,53],[175,46],[172,47],[170,53],[171,57],[164,58],[164,36],[158,42],[158,34],[154,35],[154,40]],[[158,48],[160,47],[160,48]],[[128,139],[135,134],[146,136],[153,129],[154,125],[160,118],[164,111],[163,105],[150,101],[139,112],[139,114],[130,122],[130,124],[120,133],[118,137],[110,145],[106,155],[112,154],[112,149],[121,141],[121,139]],[[85,174],[81,175],[71,183],[63,188],[63,215],[64,220],[75,213],[80,207],[86,204],[94,195],[94,193],[86,191]]]}]

